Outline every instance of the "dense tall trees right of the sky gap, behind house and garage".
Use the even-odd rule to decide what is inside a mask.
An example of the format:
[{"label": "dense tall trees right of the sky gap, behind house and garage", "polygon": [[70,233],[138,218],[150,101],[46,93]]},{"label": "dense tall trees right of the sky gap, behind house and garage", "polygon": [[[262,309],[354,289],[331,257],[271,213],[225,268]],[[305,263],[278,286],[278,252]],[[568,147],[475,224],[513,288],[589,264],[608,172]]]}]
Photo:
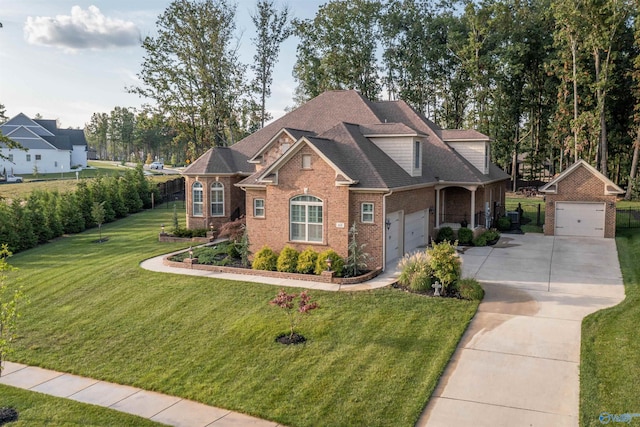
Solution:
[{"label": "dense tall trees right of the sky gap, behind house and garage", "polygon": [[442,127],[490,135],[494,161],[514,177],[521,163],[534,179],[584,158],[622,182],[633,152],[638,8],[634,0],[332,0],[295,21],[296,99],[349,88],[404,99]]}]

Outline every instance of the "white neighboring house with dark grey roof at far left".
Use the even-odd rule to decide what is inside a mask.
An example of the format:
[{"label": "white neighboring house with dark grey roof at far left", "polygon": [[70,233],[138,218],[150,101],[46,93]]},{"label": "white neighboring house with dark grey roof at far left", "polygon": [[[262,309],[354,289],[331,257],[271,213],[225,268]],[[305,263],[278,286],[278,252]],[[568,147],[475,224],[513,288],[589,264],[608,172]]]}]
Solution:
[{"label": "white neighboring house with dark grey roof at far left", "polygon": [[30,119],[23,113],[0,125],[6,137],[24,150],[8,149],[0,142],[0,174],[69,172],[87,166],[87,140],[82,129],[58,129],[55,120]]}]

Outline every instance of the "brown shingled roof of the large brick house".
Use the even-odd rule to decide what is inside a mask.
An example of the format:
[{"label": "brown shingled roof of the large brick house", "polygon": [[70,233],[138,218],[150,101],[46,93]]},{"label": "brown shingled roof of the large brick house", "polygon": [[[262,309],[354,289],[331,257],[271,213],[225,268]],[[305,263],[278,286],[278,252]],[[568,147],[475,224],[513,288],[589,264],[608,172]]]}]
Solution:
[{"label": "brown shingled roof of the large brick house", "polygon": [[[283,131],[297,142],[272,164],[257,172],[253,165],[230,166],[229,152],[235,153],[235,162],[256,161]],[[425,141],[422,175],[412,177],[369,139],[375,136],[415,136]],[[238,185],[266,185],[292,153],[307,144],[336,169],[340,183],[348,182],[352,188],[390,189],[439,181],[482,185],[509,179],[495,165],[488,174],[483,174],[449,147],[442,139],[445,136],[459,141],[489,141],[489,137],[477,131],[443,130],[404,101],[370,102],[357,91],[330,91],[231,147],[212,148],[183,173],[242,171],[248,177]]]}]

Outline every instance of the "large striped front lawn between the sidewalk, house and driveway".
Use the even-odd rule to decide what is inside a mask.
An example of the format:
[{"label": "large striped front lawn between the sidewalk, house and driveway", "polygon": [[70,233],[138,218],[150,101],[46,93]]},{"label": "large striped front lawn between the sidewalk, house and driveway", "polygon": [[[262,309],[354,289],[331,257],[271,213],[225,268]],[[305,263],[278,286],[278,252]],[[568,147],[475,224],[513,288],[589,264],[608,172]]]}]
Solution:
[{"label": "large striped front lawn between the sidewalk, house and driveway", "polygon": [[106,243],[91,230],[12,257],[31,304],[11,359],[288,426],[415,424],[477,302],[312,291],[307,343],[283,346],[278,288],[139,267],[179,248],[157,241],[172,213],[107,224]]}]

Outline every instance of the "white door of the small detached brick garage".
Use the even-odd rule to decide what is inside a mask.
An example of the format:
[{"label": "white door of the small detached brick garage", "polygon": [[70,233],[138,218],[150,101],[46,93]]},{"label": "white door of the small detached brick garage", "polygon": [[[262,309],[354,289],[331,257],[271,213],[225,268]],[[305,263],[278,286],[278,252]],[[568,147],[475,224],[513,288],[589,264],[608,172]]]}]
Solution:
[{"label": "white door of the small detached brick garage", "polygon": [[556,202],[556,236],[604,237],[604,203]]}]

